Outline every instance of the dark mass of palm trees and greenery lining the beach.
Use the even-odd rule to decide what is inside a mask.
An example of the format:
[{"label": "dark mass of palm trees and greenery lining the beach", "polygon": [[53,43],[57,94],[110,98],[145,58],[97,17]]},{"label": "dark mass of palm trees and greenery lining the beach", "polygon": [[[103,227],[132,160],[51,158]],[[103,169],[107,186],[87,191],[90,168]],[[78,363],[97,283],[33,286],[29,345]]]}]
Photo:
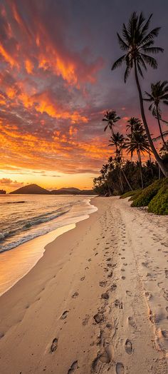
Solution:
[{"label": "dark mass of palm trees and greenery lining the beach", "polygon": [[[112,71],[125,64],[125,82],[130,72],[135,74],[135,83],[140,99],[141,118],[132,116],[127,121],[125,134],[115,131],[115,126],[122,121],[114,109],[106,111],[103,121],[107,124],[104,131],[110,130],[109,146],[113,148],[112,156],[100,170],[100,176],[93,180],[95,193],[104,196],[121,195],[121,198],[130,197],[132,206],[147,206],[159,193],[161,211],[167,212],[167,187],[162,188],[168,177],[168,131],[164,131],[162,124],[168,124],[162,116],[162,106],[168,104],[168,81],[157,81],[151,84],[151,91],[142,97],[140,76],[147,66],[157,69],[157,61],[152,54],[163,52],[161,47],[154,46],[154,39],[159,34],[159,27],[149,31],[152,15],[145,20],[141,13],[134,12],[127,23],[122,25],[122,36],[117,34],[120,48],[124,54],[112,65]],[[152,138],[145,114],[144,102],[149,101],[149,111],[157,120],[159,134]],[[120,126],[121,128],[121,126]],[[154,142],[161,140],[162,145],[154,146]],[[158,143],[157,143],[158,145]],[[128,160],[130,155],[130,160]],[[142,156],[145,161],[142,161]],[[157,207],[159,211],[159,206]]]}]

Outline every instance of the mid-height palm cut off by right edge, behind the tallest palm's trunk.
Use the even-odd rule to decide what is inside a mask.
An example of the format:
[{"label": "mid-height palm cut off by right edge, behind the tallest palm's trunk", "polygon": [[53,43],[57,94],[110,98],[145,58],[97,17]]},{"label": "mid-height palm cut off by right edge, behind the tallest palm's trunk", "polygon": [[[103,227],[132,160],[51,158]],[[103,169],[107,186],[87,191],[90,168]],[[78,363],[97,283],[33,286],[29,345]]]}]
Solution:
[{"label": "mid-height palm cut off by right edge, behind the tallest palm's trunk", "polygon": [[[164,146],[167,148],[167,143],[164,141],[164,133],[160,121],[162,121],[162,111],[159,106],[160,103],[168,105],[168,82],[158,81],[156,84],[151,84],[151,93],[146,92],[148,98],[144,98],[145,101],[149,101],[149,111],[152,111],[154,118],[157,118],[160,136]],[[168,148],[167,148],[168,151]]]}]

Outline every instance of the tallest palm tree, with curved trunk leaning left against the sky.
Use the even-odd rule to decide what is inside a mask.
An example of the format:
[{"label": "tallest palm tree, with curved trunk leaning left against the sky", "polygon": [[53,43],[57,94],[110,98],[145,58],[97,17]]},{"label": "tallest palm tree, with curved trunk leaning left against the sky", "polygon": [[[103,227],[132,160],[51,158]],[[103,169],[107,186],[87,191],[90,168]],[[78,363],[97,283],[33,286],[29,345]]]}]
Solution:
[{"label": "tallest palm tree, with curved trunk leaning left against the sky", "polygon": [[117,38],[120,44],[120,48],[122,49],[122,51],[125,51],[125,54],[123,54],[119,59],[117,59],[117,61],[115,61],[115,63],[112,65],[112,70],[116,69],[122,64],[122,62],[124,62],[126,64],[126,82],[128,76],[130,75],[130,71],[132,70],[132,68],[134,68],[135,81],[140,98],[142,121],[145,126],[149,145],[152,149],[152,152],[154,153],[154,157],[156,158],[157,163],[159,163],[159,166],[164,173],[164,176],[168,176],[168,169],[166,166],[164,166],[162,159],[159,157],[159,153],[157,153],[157,150],[154,147],[154,143],[152,141],[152,137],[149,133],[139,81],[139,74],[143,77],[142,69],[147,70],[147,65],[151,66],[153,69],[157,69],[157,61],[152,56],[150,56],[150,54],[158,54],[159,52],[164,51],[164,49],[160,47],[153,46],[154,38],[158,36],[160,28],[157,27],[155,29],[152,29],[152,31],[149,31],[151,18],[152,14],[147,20],[145,20],[145,17],[142,13],[140,13],[140,16],[137,16],[137,13],[134,12],[132,16],[130,16],[130,20],[127,26],[123,24],[122,37],[117,34]]}]

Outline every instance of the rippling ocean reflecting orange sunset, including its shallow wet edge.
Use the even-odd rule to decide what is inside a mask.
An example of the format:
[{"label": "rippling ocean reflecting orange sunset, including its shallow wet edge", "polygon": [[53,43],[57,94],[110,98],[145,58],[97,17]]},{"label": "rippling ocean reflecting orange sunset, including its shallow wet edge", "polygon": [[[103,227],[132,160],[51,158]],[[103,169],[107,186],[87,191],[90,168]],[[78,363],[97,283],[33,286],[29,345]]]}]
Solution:
[{"label": "rippling ocean reflecting orange sunset, including its shallow wet edge", "polygon": [[97,210],[93,197],[0,195],[0,295],[31,270],[47,243]]}]

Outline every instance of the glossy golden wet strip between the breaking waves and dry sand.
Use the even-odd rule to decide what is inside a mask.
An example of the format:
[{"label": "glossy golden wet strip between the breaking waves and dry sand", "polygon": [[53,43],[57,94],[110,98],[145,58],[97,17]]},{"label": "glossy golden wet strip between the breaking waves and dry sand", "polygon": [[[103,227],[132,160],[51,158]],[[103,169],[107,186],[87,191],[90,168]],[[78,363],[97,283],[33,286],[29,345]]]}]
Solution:
[{"label": "glossy golden wet strip between the breaking waves and dry sand", "polygon": [[[91,204],[92,199],[93,198],[88,199],[88,204],[94,211],[96,210],[96,207]],[[46,251],[48,243],[53,242],[58,236],[63,235],[66,231],[75,228],[76,223],[88,219],[93,211],[88,213],[81,212],[81,216],[71,218],[71,223],[68,223],[66,219],[63,226],[58,226],[58,228],[48,231],[48,233],[36,236],[25,243],[19,244],[19,246],[11,248],[10,250],[2,251],[0,253],[1,266],[6,269],[6,271],[4,273],[1,272],[0,274],[0,297],[12,288],[21,278],[26,276],[26,274],[31,271],[31,268],[36,266],[36,263],[38,263],[40,258],[43,256],[43,253]],[[58,220],[59,218],[57,221]],[[69,218],[68,220],[70,221]]]}]

